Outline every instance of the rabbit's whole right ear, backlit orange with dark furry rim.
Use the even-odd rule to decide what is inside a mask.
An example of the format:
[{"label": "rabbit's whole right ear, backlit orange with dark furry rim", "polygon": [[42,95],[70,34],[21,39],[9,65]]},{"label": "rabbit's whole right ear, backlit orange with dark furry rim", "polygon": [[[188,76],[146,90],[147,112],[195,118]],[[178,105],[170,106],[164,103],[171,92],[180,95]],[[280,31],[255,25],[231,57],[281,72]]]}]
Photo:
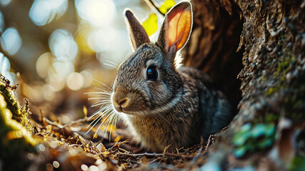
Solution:
[{"label": "rabbit's whole right ear, backlit orange with dark furry rim", "polygon": [[[183,1],[168,11],[156,44],[169,53],[171,58],[188,42],[193,25],[191,3]],[[173,58],[171,59],[173,60]]]}]

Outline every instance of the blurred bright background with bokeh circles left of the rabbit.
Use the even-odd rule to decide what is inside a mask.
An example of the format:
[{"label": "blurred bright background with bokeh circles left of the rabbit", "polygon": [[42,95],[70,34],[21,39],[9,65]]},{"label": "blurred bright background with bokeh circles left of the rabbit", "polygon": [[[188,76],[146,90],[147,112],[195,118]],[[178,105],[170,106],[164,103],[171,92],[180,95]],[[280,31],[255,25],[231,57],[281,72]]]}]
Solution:
[{"label": "blurred bright background with bokeh circles left of the rabbit", "polygon": [[0,0],[0,73],[19,83],[18,99],[28,98],[33,118],[41,109],[62,123],[82,118],[94,103],[84,93],[112,85],[132,53],[126,8],[141,22],[152,12],[144,0]]}]

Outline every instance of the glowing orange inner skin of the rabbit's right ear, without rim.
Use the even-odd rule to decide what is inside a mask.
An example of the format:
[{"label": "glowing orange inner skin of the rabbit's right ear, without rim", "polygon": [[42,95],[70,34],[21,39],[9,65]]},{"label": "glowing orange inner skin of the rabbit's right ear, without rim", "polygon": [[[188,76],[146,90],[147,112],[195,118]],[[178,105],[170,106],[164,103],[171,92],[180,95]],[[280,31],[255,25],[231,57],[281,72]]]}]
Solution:
[{"label": "glowing orange inner skin of the rabbit's right ear, without rim", "polygon": [[191,31],[191,11],[189,8],[174,9],[171,14],[168,15],[168,30],[166,31],[168,51],[175,44],[176,51],[178,51],[188,40]]}]

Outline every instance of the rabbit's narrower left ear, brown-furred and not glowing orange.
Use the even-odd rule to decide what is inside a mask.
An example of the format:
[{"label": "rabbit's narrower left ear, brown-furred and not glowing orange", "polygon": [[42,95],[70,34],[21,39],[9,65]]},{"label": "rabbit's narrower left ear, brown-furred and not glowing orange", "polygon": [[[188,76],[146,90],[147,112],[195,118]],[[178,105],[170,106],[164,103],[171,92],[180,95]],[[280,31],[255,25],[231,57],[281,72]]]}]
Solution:
[{"label": "rabbit's narrower left ear, brown-furred and not glowing orange", "polygon": [[143,26],[141,26],[134,14],[132,14],[132,11],[127,9],[124,13],[126,16],[127,28],[129,28],[129,36],[132,40],[132,48],[134,48],[135,51],[141,44],[150,42],[149,36],[147,36]]}]

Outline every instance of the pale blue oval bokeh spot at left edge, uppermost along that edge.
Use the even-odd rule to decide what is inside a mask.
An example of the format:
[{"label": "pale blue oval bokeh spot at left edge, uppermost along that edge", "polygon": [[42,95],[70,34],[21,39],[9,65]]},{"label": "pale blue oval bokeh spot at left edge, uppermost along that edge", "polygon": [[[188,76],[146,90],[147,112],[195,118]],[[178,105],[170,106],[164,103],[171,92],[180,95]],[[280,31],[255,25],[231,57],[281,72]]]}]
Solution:
[{"label": "pale blue oval bokeh spot at left edge, uppermost along that edge", "polygon": [[14,27],[6,28],[1,35],[1,47],[9,55],[14,55],[21,47],[21,43],[21,37]]}]

